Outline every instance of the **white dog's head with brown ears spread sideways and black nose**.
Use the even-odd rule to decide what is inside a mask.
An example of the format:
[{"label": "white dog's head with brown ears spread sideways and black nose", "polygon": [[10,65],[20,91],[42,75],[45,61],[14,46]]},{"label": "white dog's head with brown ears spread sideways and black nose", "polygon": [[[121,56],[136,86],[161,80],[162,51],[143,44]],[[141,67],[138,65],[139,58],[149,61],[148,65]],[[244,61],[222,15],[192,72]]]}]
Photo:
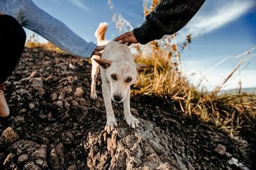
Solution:
[{"label": "white dog's head with brown ears spread sideways and black nose", "polygon": [[128,58],[95,59],[95,61],[106,70],[106,79],[110,84],[110,95],[114,102],[123,102],[129,88],[136,81],[138,71],[149,65],[135,64]]}]

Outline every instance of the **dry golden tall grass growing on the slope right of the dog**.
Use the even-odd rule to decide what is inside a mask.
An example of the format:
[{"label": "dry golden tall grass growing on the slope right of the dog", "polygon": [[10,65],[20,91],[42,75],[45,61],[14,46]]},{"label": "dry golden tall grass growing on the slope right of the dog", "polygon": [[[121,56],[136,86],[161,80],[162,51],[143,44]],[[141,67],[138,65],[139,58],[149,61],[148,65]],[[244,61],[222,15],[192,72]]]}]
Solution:
[{"label": "dry golden tall grass growing on the slope right of the dog", "polygon": [[[144,1],[144,14],[147,15],[154,10],[158,3],[159,1],[152,1],[152,5],[148,6]],[[136,63],[147,63],[154,68],[138,76],[135,84],[137,88],[132,90],[132,96],[159,97],[185,115],[195,115],[205,125],[219,128],[231,137],[236,136],[241,128],[252,128],[256,120],[256,95],[218,93],[255,49],[245,52],[244,59],[234,70],[230,70],[230,75],[214,90],[200,91],[198,87],[189,84],[182,73],[180,63],[180,51],[191,43],[193,36],[188,35],[180,46],[175,42],[175,38],[176,35],[164,36],[162,40],[150,42],[149,45],[134,46]]]}]

